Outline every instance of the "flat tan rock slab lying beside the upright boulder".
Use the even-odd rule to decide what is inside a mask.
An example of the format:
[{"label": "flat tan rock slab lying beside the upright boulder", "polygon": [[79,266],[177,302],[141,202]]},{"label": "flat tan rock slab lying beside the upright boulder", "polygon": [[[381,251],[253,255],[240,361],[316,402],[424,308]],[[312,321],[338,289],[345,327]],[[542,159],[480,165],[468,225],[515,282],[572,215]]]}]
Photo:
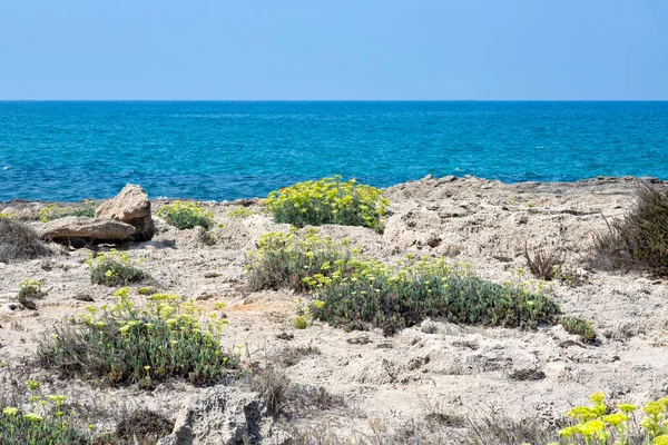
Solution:
[{"label": "flat tan rock slab lying beside the upright boulder", "polygon": [[68,216],[53,219],[37,229],[40,238],[52,240],[94,239],[122,241],[132,239],[135,227],[111,219]]}]

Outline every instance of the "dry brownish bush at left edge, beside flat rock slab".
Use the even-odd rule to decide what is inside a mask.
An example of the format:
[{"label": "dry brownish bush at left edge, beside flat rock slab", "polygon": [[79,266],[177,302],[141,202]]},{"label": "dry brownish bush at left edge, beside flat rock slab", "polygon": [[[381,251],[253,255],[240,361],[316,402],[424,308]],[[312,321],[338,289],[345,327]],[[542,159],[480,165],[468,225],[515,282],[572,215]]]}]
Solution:
[{"label": "dry brownish bush at left edge, beside flat rock slab", "polygon": [[0,263],[33,259],[50,250],[28,225],[11,218],[0,218]]}]

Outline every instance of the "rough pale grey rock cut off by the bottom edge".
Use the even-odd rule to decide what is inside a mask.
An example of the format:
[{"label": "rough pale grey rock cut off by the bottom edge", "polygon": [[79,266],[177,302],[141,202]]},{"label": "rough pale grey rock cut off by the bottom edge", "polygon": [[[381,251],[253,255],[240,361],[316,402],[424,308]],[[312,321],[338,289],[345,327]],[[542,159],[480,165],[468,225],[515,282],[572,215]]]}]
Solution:
[{"label": "rough pale grey rock cut off by the bottom edge", "polygon": [[171,435],[158,444],[255,444],[261,439],[263,415],[259,394],[225,385],[214,386],[193,396],[178,414]]}]

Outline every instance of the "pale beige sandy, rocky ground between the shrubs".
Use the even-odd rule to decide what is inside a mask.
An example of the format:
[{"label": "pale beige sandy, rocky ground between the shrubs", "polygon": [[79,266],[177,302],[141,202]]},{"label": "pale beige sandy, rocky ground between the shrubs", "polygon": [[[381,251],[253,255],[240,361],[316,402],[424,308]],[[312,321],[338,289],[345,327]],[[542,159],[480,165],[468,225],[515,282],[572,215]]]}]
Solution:
[{"label": "pale beige sandy, rocky ground between the shrubs", "polygon": [[[200,241],[199,230],[178,231],[156,218],[154,240],[122,246],[165,291],[198,299],[205,308],[227,304],[224,342],[243,345],[247,360],[282,362],[286,348],[313,346],[308,354],[283,363],[295,385],[323,386],[344,404],[306,413],[302,423],[325,423],[342,432],[367,428],[369,419],[400,424],[420,419],[429,404],[468,416],[502,409],[521,418],[560,417],[569,406],[587,402],[595,390],[612,400],[645,402],[668,394],[667,281],[638,273],[588,269],[592,237],[606,229],[605,217],[623,212],[633,192],[630,178],[596,178],[574,184],[504,185],[478,178],[425,178],[391,187],[392,204],[383,235],[355,227],[324,226],[318,231],[348,237],[365,254],[392,259],[409,251],[464,260],[481,277],[503,281],[511,268],[525,267],[530,249],[561,246],[567,265],[584,276],[581,286],[557,283],[554,296],[566,315],[591,319],[599,345],[584,345],[562,327],[537,332],[456,326],[428,320],[392,337],[380,332],[344,333],[315,323],[293,327],[295,295],[288,290],[249,293],[245,288],[245,253],[266,231],[287,230],[274,224],[257,204],[247,218],[229,217],[238,204],[207,206],[215,212],[215,245]],[[6,204],[26,217],[43,204]],[[157,204],[154,202],[154,210]],[[39,224],[39,222],[31,222]],[[104,248],[104,247],[102,247]],[[100,388],[95,382],[63,382],[33,365],[36,342],[55,323],[94,305],[114,301],[114,288],[90,284],[84,263],[89,249],[57,249],[48,259],[0,264],[0,390],[11,377],[32,376],[53,392],[77,394],[88,408],[148,406],[168,415],[197,388],[171,383],[151,393],[137,388]],[[206,278],[207,274],[218,274]],[[18,284],[39,279],[48,291],[37,312],[11,309]],[[278,339],[287,333],[292,340]],[[296,362],[296,363],[295,363]],[[544,378],[522,379],[522,375]]]}]

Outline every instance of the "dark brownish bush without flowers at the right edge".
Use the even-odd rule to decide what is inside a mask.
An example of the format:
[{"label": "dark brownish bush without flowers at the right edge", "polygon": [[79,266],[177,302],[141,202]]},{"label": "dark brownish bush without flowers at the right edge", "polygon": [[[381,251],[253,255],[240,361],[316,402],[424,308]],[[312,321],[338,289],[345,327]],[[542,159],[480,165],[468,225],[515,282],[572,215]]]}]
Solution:
[{"label": "dark brownish bush without flowers at the right edge", "polygon": [[595,266],[668,275],[668,187],[641,182],[632,207],[595,239]]}]

